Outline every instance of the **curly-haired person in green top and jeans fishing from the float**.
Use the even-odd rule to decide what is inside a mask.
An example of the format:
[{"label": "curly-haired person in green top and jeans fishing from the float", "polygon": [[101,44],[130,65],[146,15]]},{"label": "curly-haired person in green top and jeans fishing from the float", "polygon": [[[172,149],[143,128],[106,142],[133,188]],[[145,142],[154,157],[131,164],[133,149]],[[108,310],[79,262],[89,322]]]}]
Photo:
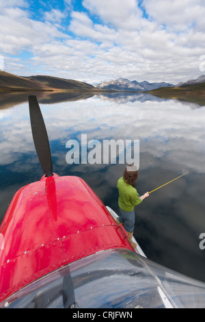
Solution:
[{"label": "curly-haired person in green top and jeans fishing from the float", "polygon": [[126,166],[123,177],[118,179],[117,188],[119,191],[118,206],[120,208],[120,216],[117,218],[118,225],[123,225],[128,234],[128,240],[133,246],[137,247],[132,242],[133,230],[135,225],[135,206],[139,205],[143,199],[149,197],[149,193],[145,193],[141,197],[135,188],[135,182],[138,179],[137,167],[134,165]]}]

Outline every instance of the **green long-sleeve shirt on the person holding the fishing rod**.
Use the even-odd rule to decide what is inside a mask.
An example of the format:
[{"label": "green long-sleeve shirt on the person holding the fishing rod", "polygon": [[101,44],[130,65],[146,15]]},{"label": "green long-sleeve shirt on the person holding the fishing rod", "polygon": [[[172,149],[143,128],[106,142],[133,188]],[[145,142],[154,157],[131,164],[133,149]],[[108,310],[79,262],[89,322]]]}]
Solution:
[{"label": "green long-sleeve shirt on the person holding the fishing rod", "polygon": [[118,204],[122,210],[133,211],[135,206],[141,203],[142,200],[139,198],[137,190],[131,184],[126,184],[123,177],[118,179],[117,188],[119,190]]}]

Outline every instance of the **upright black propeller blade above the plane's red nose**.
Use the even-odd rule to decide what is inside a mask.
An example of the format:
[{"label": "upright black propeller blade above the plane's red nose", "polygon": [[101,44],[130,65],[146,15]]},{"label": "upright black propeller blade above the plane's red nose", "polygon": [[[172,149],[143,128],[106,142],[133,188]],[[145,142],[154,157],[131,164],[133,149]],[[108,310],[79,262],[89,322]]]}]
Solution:
[{"label": "upright black propeller blade above the plane's red nose", "polygon": [[29,96],[29,112],[33,142],[36,147],[38,160],[46,177],[51,177],[53,175],[53,164],[51,160],[49,138],[37,97],[34,95]]}]

